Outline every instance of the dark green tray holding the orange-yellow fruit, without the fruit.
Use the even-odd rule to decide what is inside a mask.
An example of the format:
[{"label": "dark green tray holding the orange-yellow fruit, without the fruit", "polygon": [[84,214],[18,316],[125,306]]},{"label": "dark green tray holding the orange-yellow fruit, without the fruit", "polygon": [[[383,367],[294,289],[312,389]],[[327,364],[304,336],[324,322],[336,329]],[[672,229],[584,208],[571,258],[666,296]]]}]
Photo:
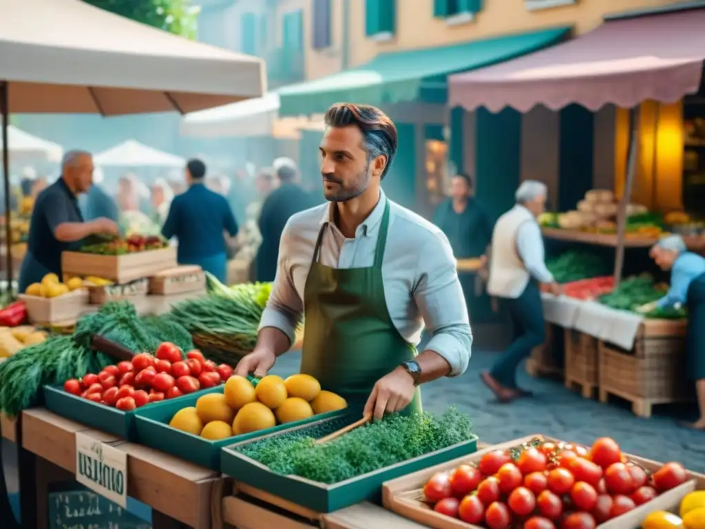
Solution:
[{"label": "dark green tray holding the orange-yellow fruit, without the fruit", "polygon": [[[221,393],[223,392],[223,386],[218,389]],[[166,454],[171,454],[191,463],[220,472],[223,446],[247,441],[247,439],[255,437],[262,437],[262,434],[276,434],[292,427],[307,425],[322,418],[337,418],[346,413],[345,410],[321,413],[321,415],[315,415],[310,419],[289,422],[286,425],[278,425],[267,430],[236,435],[220,441],[211,441],[188,432],[175,430],[168,425],[177,411],[188,406],[196,406],[198,397],[200,395],[191,394],[180,397],[178,402],[176,400],[163,401],[159,407],[149,408],[145,406],[137,409],[137,437],[139,437],[140,443],[149,446],[149,448],[166,452]]]}]

